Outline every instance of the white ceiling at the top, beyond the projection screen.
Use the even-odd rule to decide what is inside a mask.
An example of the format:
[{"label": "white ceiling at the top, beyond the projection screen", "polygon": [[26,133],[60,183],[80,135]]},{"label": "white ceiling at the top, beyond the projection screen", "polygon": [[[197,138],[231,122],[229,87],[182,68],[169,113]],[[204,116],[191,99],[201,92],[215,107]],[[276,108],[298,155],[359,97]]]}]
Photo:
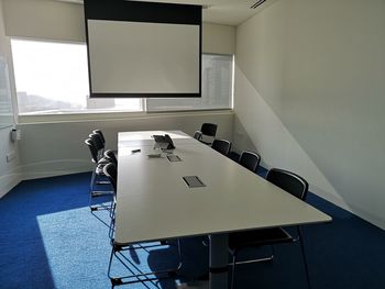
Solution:
[{"label": "white ceiling at the top, beyond the projection screen", "polygon": [[[63,2],[81,3],[82,0],[56,0]],[[204,7],[204,22],[227,25],[239,25],[262,9],[277,0],[266,0],[256,9],[251,7],[260,0],[141,0],[146,2],[166,2],[183,4],[199,4]]]}]

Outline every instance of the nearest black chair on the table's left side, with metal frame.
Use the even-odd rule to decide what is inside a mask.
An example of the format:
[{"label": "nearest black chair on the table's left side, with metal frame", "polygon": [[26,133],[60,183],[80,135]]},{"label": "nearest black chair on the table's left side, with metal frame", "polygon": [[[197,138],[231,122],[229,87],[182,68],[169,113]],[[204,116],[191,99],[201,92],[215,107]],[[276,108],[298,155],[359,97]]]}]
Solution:
[{"label": "nearest black chair on the table's left side, with metal frame", "polygon": [[[178,252],[178,263],[175,268],[164,268],[162,270],[157,271],[150,271],[150,273],[143,273],[134,274],[132,269],[130,269],[130,264],[132,263],[128,259],[128,257],[124,255],[124,252],[130,252],[130,255],[135,255],[132,251],[135,249],[145,249],[148,248],[156,248],[156,247],[164,247],[165,245],[172,245],[168,241],[160,241],[160,242],[150,242],[150,243],[141,243],[141,244],[130,244],[130,245],[120,245],[114,243],[114,223],[116,223],[116,208],[117,208],[117,184],[118,184],[118,168],[114,164],[110,163],[107,164],[103,167],[103,174],[110,179],[110,182],[112,185],[112,188],[114,190],[113,194],[113,202],[111,204],[111,211],[110,211],[110,226],[109,226],[109,237],[111,242],[111,256],[110,262],[108,265],[108,276],[111,280],[112,288],[118,285],[124,285],[124,284],[132,284],[132,282],[145,282],[145,281],[152,281],[152,280],[158,280],[160,275],[168,275],[173,274],[182,268],[182,249],[180,249],[180,241],[179,238],[176,240],[176,246]],[[125,268],[128,268],[132,275],[130,276],[119,276],[113,277],[111,276],[111,265],[113,262],[113,257],[116,257],[117,260],[119,260]],[[138,269],[138,268],[136,268]],[[152,277],[154,276],[154,277]],[[128,281],[124,281],[128,280]]]}]

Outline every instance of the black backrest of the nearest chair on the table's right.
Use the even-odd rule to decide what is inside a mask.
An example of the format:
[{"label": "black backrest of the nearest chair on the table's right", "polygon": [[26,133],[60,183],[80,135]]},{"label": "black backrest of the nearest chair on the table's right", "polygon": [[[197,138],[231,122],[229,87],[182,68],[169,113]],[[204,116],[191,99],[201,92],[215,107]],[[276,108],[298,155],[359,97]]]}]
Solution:
[{"label": "black backrest of the nearest chair on the table's right", "polygon": [[272,168],[267,171],[266,180],[292,193],[298,199],[304,201],[306,200],[309,185],[298,175],[288,170]]}]

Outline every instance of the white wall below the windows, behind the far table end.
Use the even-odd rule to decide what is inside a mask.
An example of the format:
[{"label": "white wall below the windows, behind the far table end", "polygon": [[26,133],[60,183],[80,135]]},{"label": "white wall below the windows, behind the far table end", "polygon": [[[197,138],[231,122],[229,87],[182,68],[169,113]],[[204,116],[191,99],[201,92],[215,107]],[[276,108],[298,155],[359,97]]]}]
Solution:
[{"label": "white wall below the windows, behind the far table end", "polygon": [[90,153],[84,141],[95,129],[102,130],[108,148],[117,149],[118,132],[182,130],[193,135],[204,122],[217,123],[218,137],[232,140],[232,112],[163,113],[125,119],[20,124],[24,179],[90,170]]}]

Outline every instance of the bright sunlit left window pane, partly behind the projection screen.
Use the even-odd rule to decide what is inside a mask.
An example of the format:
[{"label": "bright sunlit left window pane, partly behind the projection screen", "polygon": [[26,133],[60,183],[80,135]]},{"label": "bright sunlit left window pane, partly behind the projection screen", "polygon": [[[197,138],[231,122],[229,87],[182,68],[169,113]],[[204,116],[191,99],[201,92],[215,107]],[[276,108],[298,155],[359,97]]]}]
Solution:
[{"label": "bright sunlit left window pane, partly behind the projection screen", "polygon": [[85,44],[12,40],[19,114],[142,111],[141,99],[90,99]]}]

